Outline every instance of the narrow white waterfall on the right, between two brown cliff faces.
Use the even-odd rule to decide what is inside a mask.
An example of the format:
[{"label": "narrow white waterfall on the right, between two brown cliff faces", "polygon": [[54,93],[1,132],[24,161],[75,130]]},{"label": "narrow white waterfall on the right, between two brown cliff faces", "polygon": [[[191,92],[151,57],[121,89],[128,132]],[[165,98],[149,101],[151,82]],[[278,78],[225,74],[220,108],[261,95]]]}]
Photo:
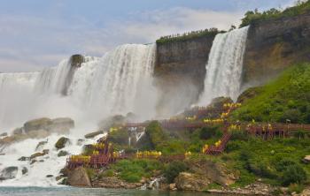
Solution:
[{"label": "narrow white waterfall on the right, between two brown cliff faces", "polygon": [[215,36],[205,67],[205,91],[200,97],[200,104],[207,104],[218,96],[236,100],[240,93],[248,29],[249,26],[245,26]]}]

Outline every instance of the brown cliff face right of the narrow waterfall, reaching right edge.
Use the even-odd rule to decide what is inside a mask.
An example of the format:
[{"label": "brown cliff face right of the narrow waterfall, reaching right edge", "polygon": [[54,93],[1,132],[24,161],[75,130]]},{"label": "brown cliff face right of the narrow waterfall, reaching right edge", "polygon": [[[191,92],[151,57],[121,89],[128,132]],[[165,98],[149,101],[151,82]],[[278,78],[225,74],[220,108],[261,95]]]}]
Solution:
[{"label": "brown cliff face right of the narrow waterfall, reaching right edge", "polygon": [[310,61],[310,13],[262,21],[250,27],[243,87],[274,79],[291,64]]}]

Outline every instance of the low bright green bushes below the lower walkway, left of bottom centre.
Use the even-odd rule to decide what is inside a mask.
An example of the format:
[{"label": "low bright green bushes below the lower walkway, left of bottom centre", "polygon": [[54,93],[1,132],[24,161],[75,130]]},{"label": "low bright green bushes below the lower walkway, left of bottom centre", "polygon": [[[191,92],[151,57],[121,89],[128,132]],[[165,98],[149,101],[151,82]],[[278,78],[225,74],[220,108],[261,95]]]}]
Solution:
[{"label": "low bright green bushes below the lower walkway, left of bottom centre", "polygon": [[139,182],[142,177],[151,177],[161,168],[162,164],[156,160],[121,160],[112,165],[112,170],[129,183]]}]

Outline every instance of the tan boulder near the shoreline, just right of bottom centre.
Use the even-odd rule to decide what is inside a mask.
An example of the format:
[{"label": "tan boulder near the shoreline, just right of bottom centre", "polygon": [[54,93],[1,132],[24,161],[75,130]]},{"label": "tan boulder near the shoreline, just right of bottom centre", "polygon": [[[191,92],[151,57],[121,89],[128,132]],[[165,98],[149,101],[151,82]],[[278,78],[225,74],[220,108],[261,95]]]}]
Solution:
[{"label": "tan boulder near the shoreline, just right of bottom centre", "polygon": [[174,183],[180,191],[204,191],[211,182],[204,176],[182,172],[175,177]]}]

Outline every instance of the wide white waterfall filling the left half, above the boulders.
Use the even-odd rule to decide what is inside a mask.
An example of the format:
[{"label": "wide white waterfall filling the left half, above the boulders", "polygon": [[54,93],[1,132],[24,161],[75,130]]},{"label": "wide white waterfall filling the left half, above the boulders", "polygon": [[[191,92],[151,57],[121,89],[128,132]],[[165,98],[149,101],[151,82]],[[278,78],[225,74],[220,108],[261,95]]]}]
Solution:
[{"label": "wide white waterfall filling the left half, above the boulders", "polygon": [[0,132],[35,117],[92,124],[128,112],[152,117],[155,51],[156,44],[125,44],[103,57],[84,57],[76,69],[65,59],[42,72],[0,73]]}]

